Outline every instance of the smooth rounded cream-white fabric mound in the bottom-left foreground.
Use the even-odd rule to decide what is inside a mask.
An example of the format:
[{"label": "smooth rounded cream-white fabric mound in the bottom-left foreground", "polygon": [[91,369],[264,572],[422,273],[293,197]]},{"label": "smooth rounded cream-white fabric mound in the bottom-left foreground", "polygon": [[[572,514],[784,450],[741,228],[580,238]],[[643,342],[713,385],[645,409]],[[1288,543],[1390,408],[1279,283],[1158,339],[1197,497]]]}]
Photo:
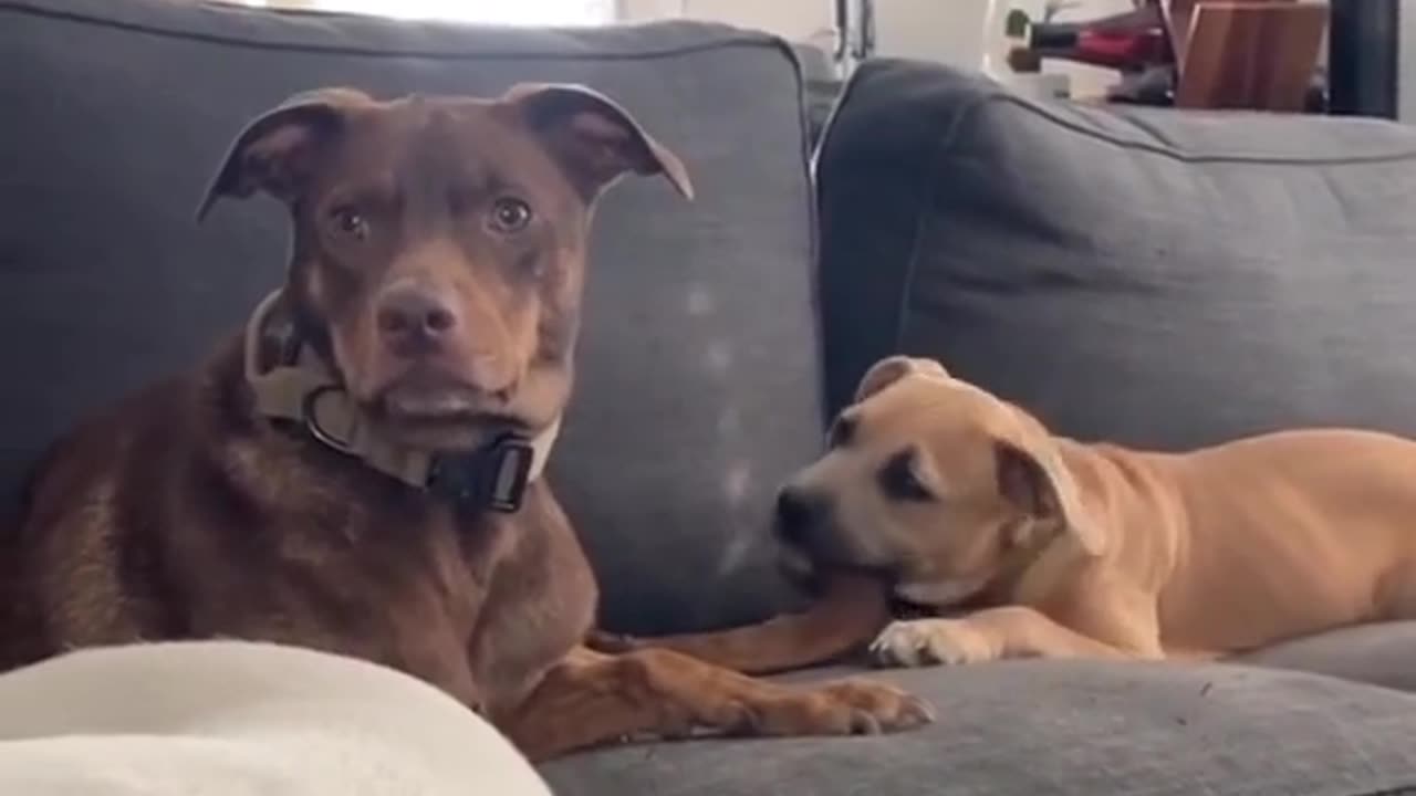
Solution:
[{"label": "smooth rounded cream-white fabric mound in the bottom-left foreground", "polygon": [[549,796],[432,686],[248,642],[91,649],[0,676],[0,793]]}]

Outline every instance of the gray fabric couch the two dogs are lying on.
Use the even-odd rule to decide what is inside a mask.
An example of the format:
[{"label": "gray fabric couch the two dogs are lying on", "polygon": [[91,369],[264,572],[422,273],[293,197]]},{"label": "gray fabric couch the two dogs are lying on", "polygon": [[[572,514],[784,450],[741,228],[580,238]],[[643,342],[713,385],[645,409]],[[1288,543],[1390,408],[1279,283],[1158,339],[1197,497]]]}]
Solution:
[{"label": "gray fabric couch the two dogs are lying on", "polygon": [[[881,61],[847,86],[816,190],[792,51],[756,33],[0,0],[0,507],[76,416],[187,367],[278,282],[273,204],[191,221],[248,116],[316,85],[479,93],[521,79],[612,93],[700,190],[690,205],[626,183],[596,232],[551,476],[610,629],[799,606],[772,567],[767,501],[864,367],[896,350],[1080,436],[1416,433],[1405,127],[1044,108]],[[886,673],[940,721],[636,745],[542,771],[564,796],[1395,793],[1416,790],[1413,660],[1416,629],[1395,625],[1235,664]]]}]

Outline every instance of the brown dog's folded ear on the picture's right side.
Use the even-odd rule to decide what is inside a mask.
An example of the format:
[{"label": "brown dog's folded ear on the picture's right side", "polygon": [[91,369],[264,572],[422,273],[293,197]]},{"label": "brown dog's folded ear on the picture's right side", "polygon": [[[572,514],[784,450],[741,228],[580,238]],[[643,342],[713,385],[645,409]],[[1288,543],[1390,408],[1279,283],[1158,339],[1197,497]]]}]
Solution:
[{"label": "brown dog's folded ear on the picture's right side", "polygon": [[610,98],[579,85],[517,84],[501,98],[521,108],[576,187],[593,198],[627,171],[663,174],[694,198],[688,170]]}]

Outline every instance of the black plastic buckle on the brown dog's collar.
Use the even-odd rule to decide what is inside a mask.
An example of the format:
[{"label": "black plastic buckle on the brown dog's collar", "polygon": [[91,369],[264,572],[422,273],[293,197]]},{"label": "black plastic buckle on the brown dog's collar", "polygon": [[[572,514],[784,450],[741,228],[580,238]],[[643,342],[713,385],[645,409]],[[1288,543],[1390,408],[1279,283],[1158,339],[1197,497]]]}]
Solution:
[{"label": "black plastic buckle on the brown dog's collar", "polygon": [[467,453],[438,453],[428,491],[459,506],[511,514],[521,508],[534,460],[531,443],[510,433]]}]

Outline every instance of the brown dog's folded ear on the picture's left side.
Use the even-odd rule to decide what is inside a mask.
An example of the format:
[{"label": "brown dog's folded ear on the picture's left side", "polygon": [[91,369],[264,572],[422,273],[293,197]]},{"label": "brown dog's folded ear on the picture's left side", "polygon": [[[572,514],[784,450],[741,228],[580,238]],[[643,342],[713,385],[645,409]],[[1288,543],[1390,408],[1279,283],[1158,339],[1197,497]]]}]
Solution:
[{"label": "brown dog's folded ear on the picture's left side", "polygon": [[344,115],[372,99],[351,88],[297,93],[252,119],[231,143],[217,176],[197,207],[197,221],[224,197],[246,198],[258,190],[290,201],[309,177],[314,147],[336,135]]}]

